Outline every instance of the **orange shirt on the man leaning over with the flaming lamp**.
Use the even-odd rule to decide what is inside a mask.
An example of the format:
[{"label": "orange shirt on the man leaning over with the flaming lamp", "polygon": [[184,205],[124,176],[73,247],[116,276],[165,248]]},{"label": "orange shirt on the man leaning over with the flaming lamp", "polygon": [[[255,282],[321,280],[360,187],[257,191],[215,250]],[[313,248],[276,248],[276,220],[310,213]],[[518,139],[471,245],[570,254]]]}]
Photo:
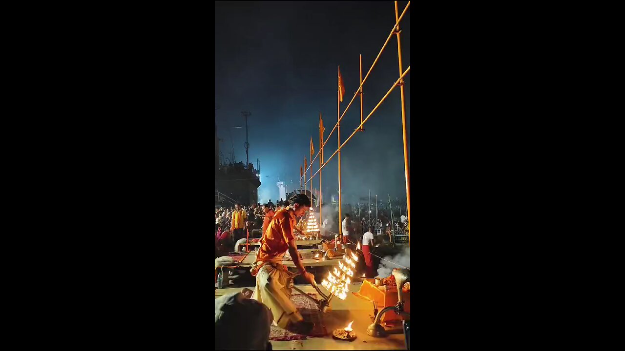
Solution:
[{"label": "orange shirt on the man leaning over with the flaming lamp", "polygon": [[276,257],[284,257],[289,249],[288,242],[295,239],[293,227],[295,216],[286,209],[281,209],[274,215],[269,227],[262,234],[261,247],[256,254],[256,261],[268,262]]}]

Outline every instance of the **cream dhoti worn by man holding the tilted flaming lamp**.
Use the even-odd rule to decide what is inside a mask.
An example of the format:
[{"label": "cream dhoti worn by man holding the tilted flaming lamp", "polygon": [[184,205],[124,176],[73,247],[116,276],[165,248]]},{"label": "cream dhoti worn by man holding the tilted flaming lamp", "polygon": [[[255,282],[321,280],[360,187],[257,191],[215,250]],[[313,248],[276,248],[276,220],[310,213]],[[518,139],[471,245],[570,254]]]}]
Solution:
[{"label": "cream dhoti worn by man holding the tilted flaming lamp", "polygon": [[[257,262],[260,263],[260,262]],[[274,324],[286,329],[289,321],[292,323],[303,320],[302,315],[291,302],[291,278],[289,272],[281,263],[281,257],[271,262],[264,262],[256,273],[256,289],[252,299],[262,302],[273,315]]]}]

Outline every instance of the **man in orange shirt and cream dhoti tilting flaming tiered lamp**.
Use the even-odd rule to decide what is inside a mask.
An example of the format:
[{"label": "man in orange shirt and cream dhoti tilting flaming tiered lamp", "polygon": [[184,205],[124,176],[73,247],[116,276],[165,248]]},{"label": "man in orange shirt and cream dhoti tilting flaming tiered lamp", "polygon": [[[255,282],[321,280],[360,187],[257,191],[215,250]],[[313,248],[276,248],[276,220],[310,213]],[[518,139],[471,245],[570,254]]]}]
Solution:
[{"label": "man in orange shirt and cream dhoti tilting flaming tiered lamp", "polygon": [[252,299],[262,302],[273,315],[274,324],[282,329],[297,334],[307,334],[314,324],[304,322],[291,302],[291,278],[294,275],[282,265],[282,257],[289,251],[291,259],[300,274],[307,282],[314,284],[314,275],[306,272],[297,253],[296,239],[293,230],[296,217],[304,215],[310,205],[305,194],[296,194],[289,206],[276,212],[269,227],[262,234],[261,247],[256,254],[256,262],[252,265],[252,275],[256,276],[256,289]]}]

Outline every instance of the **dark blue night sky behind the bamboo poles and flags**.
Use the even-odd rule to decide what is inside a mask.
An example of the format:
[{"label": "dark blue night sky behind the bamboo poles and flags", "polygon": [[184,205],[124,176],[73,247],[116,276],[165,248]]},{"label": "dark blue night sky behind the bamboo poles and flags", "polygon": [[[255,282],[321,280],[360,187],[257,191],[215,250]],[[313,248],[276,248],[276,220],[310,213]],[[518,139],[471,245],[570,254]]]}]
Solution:
[{"label": "dark blue night sky behind the bamboo poles and flags", "polygon": [[[399,1],[399,14],[407,1]],[[401,21],[403,69],[411,66],[410,14]],[[260,160],[259,202],[277,200],[276,181],[286,172],[288,191],[299,187],[299,167],[309,159],[310,137],[319,150],[319,112],[327,137],[337,121],[337,69],[346,86],[341,114],[359,86],[359,54],[366,76],[395,22],[394,3],[216,2],[215,106],[217,136],[225,157],[234,144],[236,161],[245,162],[245,121],[251,112],[249,160]],[[406,118],[410,126],[410,81],[406,76]],[[363,118],[399,77],[397,39],[392,36],[364,84]],[[360,123],[356,97],[341,121],[341,142]],[[235,129],[234,127],[243,127]],[[343,202],[377,194],[405,199],[399,87],[341,149]],[[409,136],[408,136],[409,137]],[[326,144],[326,159],[337,149],[337,132]],[[314,156],[313,156],[314,157]],[[308,160],[310,162],[310,160]],[[337,155],[322,170],[324,202],[338,189]],[[312,173],[319,167],[319,159]],[[291,180],[292,185],[291,187]],[[318,175],[313,187],[319,187]]]}]

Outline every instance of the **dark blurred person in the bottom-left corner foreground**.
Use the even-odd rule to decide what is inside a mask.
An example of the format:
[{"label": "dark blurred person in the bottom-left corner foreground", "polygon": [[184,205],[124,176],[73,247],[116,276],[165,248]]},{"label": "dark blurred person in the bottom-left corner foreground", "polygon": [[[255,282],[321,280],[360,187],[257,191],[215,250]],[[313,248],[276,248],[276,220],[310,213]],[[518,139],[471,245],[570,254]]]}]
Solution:
[{"label": "dark blurred person in the bottom-left corner foreground", "polygon": [[271,319],[266,305],[240,292],[215,299],[215,350],[271,350]]}]

